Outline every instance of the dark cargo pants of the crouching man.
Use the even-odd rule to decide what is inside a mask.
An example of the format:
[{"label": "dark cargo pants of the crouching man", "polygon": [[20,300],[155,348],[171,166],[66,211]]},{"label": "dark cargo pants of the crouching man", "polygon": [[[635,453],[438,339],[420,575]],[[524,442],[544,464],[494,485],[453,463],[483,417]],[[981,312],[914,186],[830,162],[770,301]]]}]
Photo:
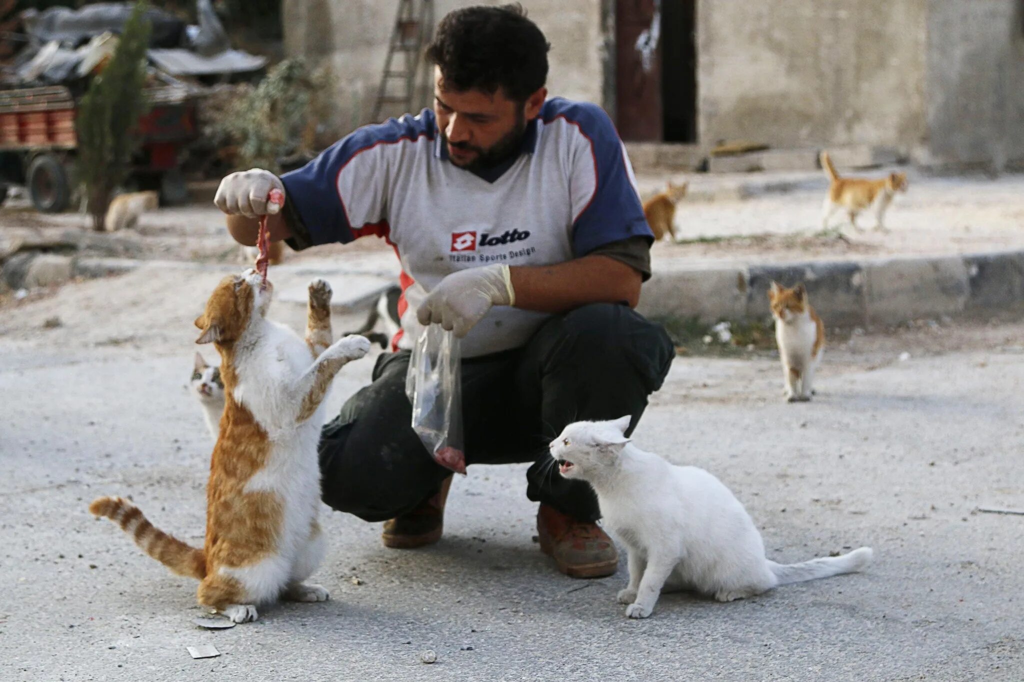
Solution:
[{"label": "dark cargo pants of the crouching man", "polygon": [[[534,462],[526,471],[530,500],[596,520],[590,487],[550,474],[548,443],[572,421],[629,414],[635,427],[674,355],[659,325],[627,306],[593,304],[552,317],[522,348],[463,360],[466,463]],[[324,427],[323,496],[339,511],[369,521],[393,518],[451,473],[412,428],[409,360],[408,351],[379,356],[373,382]]]}]

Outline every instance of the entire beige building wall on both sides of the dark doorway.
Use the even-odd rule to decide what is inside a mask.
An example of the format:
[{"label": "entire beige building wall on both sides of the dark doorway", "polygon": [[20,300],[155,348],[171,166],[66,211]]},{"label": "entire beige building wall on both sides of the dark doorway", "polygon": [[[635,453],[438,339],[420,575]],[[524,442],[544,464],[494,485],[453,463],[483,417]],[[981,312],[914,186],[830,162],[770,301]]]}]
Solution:
[{"label": "entire beige building wall on both sides of the dark doorway", "polygon": [[[479,1],[487,2],[435,0],[435,20]],[[601,7],[612,3],[522,0],[552,43],[552,94],[605,99]],[[699,142],[891,145],[926,165],[1020,166],[1022,5],[698,0]],[[370,122],[396,7],[397,0],[284,0],[288,54],[333,70],[330,124],[338,135]]]}]

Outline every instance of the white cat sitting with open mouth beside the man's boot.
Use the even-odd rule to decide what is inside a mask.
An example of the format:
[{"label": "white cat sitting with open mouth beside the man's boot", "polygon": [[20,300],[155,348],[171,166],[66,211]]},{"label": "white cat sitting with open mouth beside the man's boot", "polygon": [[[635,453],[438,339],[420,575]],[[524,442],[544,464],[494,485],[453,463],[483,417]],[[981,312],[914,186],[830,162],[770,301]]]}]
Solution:
[{"label": "white cat sitting with open mouth beside the man's boot", "polygon": [[721,481],[633,446],[629,424],[628,416],[578,421],[550,446],[552,464],[591,485],[605,530],[627,547],[630,582],[617,597],[628,618],[650,616],[664,588],[732,601],[870,562],[869,547],[801,563],[766,558],[753,519]]}]

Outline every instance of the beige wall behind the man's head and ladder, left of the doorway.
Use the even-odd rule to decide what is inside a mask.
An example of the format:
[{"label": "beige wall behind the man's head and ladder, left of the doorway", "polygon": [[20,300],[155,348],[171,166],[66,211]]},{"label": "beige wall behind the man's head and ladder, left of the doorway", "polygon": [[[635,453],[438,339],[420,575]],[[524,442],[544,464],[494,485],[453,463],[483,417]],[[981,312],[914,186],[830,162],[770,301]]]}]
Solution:
[{"label": "beige wall behind the man's head and ladder, left of the doorway", "polygon": [[[601,101],[600,1],[522,0],[551,43],[548,89]],[[435,0],[434,20],[487,0]],[[371,123],[397,0],[284,0],[285,50],[331,65],[337,90],[330,122],[339,135]],[[398,57],[396,57],[398,58]]]}]

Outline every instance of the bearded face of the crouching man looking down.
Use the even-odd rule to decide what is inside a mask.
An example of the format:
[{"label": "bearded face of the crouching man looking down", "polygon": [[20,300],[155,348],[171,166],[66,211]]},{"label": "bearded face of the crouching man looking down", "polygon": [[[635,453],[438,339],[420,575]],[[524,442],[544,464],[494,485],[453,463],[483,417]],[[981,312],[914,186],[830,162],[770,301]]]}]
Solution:
[{"label": "bearded face of the crouching man looking down", "polygon": [[538,115],[545,96],[547,91],[541,88],[525,103],[518,103],[501,89],[494,94],[447,90],[435,69],[434,115],[449,160],[459,168],[477,170],[515,155],[526,121]]}]

